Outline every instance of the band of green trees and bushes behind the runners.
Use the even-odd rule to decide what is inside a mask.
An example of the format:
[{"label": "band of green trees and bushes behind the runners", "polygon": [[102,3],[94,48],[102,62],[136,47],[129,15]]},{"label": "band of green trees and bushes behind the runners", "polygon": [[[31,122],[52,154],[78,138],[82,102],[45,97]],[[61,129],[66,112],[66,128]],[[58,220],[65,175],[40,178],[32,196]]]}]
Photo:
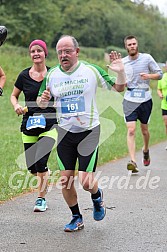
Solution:
[{"label": "band of green trees and bushes behind the runners", "polygon": [[165,62],[167,18],[145,2],[1,0],[0,24],[8,28],[7,43],[25,47],[36,38],[55,47],[62,34],[70,34],[81,46],[124,48],[124,37],[134,34],[139,39],[140,51]]}]

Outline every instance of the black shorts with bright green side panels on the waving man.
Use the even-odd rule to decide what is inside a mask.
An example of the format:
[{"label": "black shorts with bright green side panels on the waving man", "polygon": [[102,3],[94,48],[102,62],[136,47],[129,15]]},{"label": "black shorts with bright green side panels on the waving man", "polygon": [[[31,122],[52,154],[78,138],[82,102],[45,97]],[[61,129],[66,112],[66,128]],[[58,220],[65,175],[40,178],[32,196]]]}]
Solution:
[{"label": "black shorts with bright green side panels on the waving man", "polygon": [[57,160],[60,170],[95,172],[98,159],[100,126],[80,133],[58,128]]}]

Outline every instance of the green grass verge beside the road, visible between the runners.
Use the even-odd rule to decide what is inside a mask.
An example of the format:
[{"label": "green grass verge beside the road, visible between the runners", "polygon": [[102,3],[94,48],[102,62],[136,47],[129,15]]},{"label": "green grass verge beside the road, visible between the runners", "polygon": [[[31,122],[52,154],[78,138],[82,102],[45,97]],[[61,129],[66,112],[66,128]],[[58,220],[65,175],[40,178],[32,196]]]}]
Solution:
[{"label": "green grass verge beside the road, visible between the runners", "polygon": [[[21,124],[21,117],[18,117],[10,103],[10,94],[13,89],[14,81],[16,80],[20,71],[31,65],[27,50],[24,48],[16,48],[10,46],[3,46],[1,49],[1,66],[6,75],[7,82],[4,88],[4,95],[0,97],[0,201],[5,201],[21,193],[31,191],[30,182],[32,177],[28,175],[25,163],[21,168],[18,167],[16,159],[23,152],[23,144],[21,140],[21,133],[19,131]],[[82,56],[83,57],[83,56]],[[88,60],[82,58],[83,60]],[[89,59],[90,61],[90,59]],[[102,65],[103,61],[95,61],[93,63]],[[57,63],[55,50],[49,50],[49,57],[47,64],[53,66]],[[105,65],[105,63],[104,63]],[[150,144],[156,144],[166,139],[165,128],[162,121],[160,100],[156,93],[156,82],[152,84],[153,88],[153,112],[150,121]],[[97,103],[100,111],[100,119],[102,121],[101,131],[102,140],[108,137],[99,148],[98,165],[102,165],[111,160],[124,157],[128,154],[126,145],[126,125],[122,116],[121,99],[123,94],[115,96],[109,91],[102,91],[100,89]],[[20,97],[23,101],[23,97]],[[136,132],[136,148],[142,148],[142,137],[140,133],[139,124],[137,124]],[[49,159],[49,167],[51,170],[57,171],[56,149],[51,153]],[[15,188],[10,187],[11,176],[17,173],[12,179]],[[34,181],[35,184],[35,181]]]}]

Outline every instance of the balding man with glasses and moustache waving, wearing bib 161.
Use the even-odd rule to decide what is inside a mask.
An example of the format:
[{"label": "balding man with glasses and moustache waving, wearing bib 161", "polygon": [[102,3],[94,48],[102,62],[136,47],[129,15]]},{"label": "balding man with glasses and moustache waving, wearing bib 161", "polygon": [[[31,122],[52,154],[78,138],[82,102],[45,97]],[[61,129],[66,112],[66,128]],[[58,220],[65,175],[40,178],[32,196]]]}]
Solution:
[{"label": "balding man with glasses and moustache waving, wearing bib 161", "polygon": [[93,218],[101,221],[105,217],[103,192],[94,178],[100,135],[95,96],[99,84],[123,91],[125,74],[120,55],[116,52],[111,53],[112,65],[108,67],[117,72],[117,79],[96,65],[79,61],[79,45],[72,36],[62,36],[56,51],[60,64],[49,71],[37,103],[45,108],[50,96],[55,98],[59,125],[57,159],[62,193],[72,213],[72,220],[65,225],[64,231],[72,232],[84,227],[74,186],[77,160],[79,181],[83,189],[91,193]]}]

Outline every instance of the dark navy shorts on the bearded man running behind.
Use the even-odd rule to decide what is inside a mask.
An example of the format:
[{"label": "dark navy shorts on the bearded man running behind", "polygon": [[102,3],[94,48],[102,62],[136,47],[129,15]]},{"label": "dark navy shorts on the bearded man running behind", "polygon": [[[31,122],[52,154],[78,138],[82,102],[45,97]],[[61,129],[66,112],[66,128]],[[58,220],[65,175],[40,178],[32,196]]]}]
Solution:
[{"label": "dark navy shorts on the bearded man running behind", "polygon": [[147,124],[151,115],[153,102],[152,99],[143,102],[135,103],[124,99],[123,110],[126,122],[139,120],[142,124]]}]

